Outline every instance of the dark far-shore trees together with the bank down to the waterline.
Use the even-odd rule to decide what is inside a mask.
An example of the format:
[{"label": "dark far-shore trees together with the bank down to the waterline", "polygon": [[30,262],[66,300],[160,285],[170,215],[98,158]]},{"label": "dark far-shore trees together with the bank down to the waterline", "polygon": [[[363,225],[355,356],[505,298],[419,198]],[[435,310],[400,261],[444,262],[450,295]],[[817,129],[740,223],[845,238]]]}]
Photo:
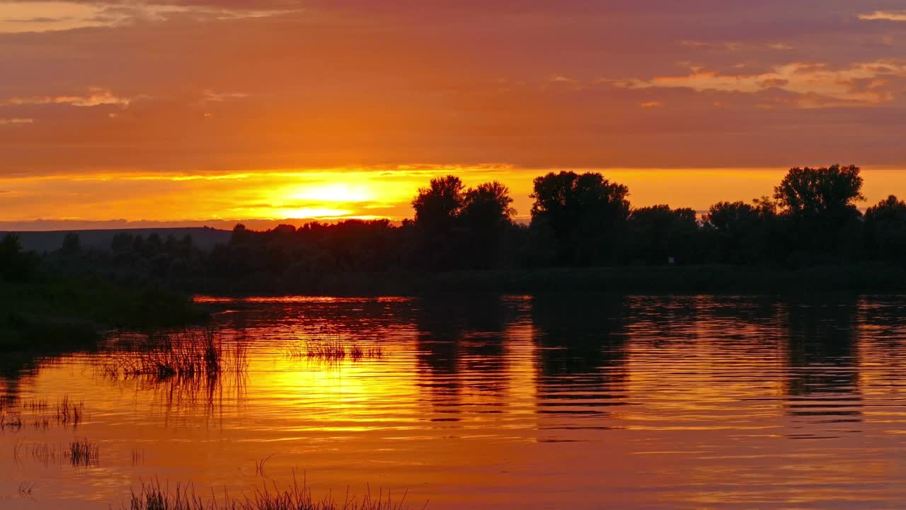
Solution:
[{"label": "dark far-shore trees together with the bank down to the waterline", "polygon": [[199,250],[191,238],[122,233],[110,250],[78,236],[43,256],[54,274],[223,294],[786,292],[906,290],[906,202],[864,211],[855,166],[794,168],[772,196],[708,211],[633,207],[600,173],[535,179],[531,221],[506,186],[433,179],[414,217],[248,230]]}]

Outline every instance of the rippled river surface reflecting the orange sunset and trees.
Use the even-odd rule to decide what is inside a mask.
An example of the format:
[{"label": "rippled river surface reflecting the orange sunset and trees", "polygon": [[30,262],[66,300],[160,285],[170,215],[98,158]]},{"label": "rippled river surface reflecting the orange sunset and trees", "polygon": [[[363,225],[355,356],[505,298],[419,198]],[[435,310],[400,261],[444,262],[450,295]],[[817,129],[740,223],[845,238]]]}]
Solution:
[{"label": "rippled river surface reflecting the orange sunset and trees", "polygon": [[[901,508],[903,302],[244,299],[215,323],[247,368],[210,384],[111,378],[104,352],[0,378],[23,422],[0,432],[0,507],[119,507],[155,477],[249,494],[295,470],[413,508]],[[306,338],[384,356],[288,357]],[[41,421],[63,397],[77,427]],[[96,463],[53,455],[75,438]]]}]

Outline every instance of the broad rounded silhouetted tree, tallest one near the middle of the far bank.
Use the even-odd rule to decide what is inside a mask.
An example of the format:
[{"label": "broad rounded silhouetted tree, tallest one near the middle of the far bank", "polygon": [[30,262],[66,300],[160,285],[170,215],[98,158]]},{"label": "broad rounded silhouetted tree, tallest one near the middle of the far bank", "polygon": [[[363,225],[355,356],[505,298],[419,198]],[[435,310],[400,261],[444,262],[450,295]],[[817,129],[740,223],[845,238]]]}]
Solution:
[{"label": "broad rounded silhouetted tree, tallest one near the middle of the far bank", "polygon": [[629,189],[600,173],[548,173],[535,179],[532,226],[548,232],[557,261],[588,265],[612,261],[629,216]]}]

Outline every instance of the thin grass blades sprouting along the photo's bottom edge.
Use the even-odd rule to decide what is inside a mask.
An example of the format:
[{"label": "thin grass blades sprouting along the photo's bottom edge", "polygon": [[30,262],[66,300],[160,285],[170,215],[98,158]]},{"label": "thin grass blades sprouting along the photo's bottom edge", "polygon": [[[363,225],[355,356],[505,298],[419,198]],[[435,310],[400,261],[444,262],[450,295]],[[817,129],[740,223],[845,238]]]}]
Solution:
[{"label": "thin grass blades sprouting along the photo's bottom edge", "polygon": [[[394,502],[390,493],[381,491],[378,495],[370,492],[354,497],[348,493],[342,501],[331,495],[317,499],[306,485],[299,485],[295,476],[293,484],[280,489],[276,485],[262,485],[255,489],[255,494],[241,499],[224,495],[217,499],[212,495],[204,498],[195,492],[192,485],[177,485],[174,490],[160,486],[154,481],[142,484],[139,492],[132,492],[129,505],[123,510],[403,510],[406,495]],[[425,505],[427,506],[427,504]],[[424,508],[424,506],[422,506]]]}]

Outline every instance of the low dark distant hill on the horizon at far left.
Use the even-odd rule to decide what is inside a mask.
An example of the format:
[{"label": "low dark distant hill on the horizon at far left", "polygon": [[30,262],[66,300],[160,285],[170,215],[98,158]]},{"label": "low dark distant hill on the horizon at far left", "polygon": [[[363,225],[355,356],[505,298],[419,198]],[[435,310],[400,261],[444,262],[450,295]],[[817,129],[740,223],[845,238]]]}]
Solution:
[{"label": "low dark distant hill on the horizon at far left", "polygon": [[[230,237],[230,230],[218,230],[209,227],[190,227],[177,229],[120,229],[120,230],[51,230],[43,232],[26,231],[16,232],[19,240],[25,250],[34,250],[38,253],[44,251],[59,250],[63,246],[63,238],[66,234],[73,233],[79,235],[82,248],[92,248],[94,250],[110,250],[113,236],[126,232],[132,235],[140,235],[147,238],[152,233],[157,233],[161,239],[166,240],[171,235],[176,239],[182,239],[189,235],[195,246],[200,250],[210,250],[214,245],[226,243]],[[7,232],[0,231],[0,237]]]}]

